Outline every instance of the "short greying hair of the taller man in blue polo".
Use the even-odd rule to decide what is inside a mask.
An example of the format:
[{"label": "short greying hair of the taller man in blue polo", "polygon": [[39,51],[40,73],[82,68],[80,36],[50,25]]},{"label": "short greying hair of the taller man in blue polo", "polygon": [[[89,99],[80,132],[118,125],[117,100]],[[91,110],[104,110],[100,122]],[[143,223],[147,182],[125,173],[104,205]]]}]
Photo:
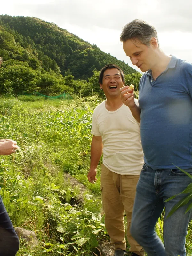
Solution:
[{"label": "short greying hair of the taller man in blue polo", "polygon": [[149,46],[152,37],[156,38],[159,45],[156,28],[144,20],[136,19],[123,27],[120,40],[125,42],[129,39],[138,39],[141,43]]}]

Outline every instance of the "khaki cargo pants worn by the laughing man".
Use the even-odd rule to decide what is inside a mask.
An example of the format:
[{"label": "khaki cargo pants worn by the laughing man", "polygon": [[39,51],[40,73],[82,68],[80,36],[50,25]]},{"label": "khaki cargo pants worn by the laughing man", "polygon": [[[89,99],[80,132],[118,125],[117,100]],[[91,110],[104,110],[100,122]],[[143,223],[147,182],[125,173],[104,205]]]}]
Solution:
[{"label": "khaki cargo pants worn by the laughing man", "polygon": [[120,175],[111,172],[102,164],[101,192],[103,210],[105,212],[105,227],[115,249],[126,249],[124,211],[127,216],[127,240],[130,251],[144,256],[142,247],[130,234],[132,208],[139,175]]}]

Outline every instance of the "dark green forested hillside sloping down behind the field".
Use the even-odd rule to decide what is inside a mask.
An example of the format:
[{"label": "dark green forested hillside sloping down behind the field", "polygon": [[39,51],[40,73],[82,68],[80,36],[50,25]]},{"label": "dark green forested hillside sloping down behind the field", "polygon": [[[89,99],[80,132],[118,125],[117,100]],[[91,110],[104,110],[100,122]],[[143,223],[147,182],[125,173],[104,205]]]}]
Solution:
[{"label": "dark green forested hillside sloping down behind the field", "polygon": [[[90,95],[98,72],[114,63],[125,75],[140,74],[128,64],[102,52],[96,45],[34,17],[0,15],[0,92],[15,96],[37,90],[46,95],[62,92]],[[130,78],[130,77],[129,77]],[[94,83],[89,84],[90,79]],[[130,79],[129,79],[130,80]]]}]

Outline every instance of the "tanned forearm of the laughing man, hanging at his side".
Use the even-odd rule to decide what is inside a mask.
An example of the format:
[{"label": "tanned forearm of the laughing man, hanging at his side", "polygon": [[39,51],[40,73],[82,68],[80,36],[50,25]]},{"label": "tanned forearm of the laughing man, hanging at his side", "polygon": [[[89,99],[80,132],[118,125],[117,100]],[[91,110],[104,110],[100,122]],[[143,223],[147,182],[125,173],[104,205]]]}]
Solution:
[{"label": "tanned forearm of the laughing man, hanging at his side", "polygon": [[99,163],[99,160],[103,153],[103,144],[102,141],[96,141],[92,140],[91,143],[91,163],[90,163],[90,169],[96,169],[97,165]]}]

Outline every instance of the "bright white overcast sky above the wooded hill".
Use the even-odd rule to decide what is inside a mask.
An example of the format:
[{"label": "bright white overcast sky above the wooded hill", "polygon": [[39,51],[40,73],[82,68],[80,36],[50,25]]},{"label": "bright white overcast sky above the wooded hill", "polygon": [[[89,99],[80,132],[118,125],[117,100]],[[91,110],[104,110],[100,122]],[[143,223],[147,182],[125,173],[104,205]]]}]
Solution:
[{"label": "bright white overcast sky above the wooded hill", "polygon": [[122,27],[137,18],[156,27],[164,52],[192,62],[191,12],[191,0],[2,0],[0,4],[0,14],[54,22],[130,66],[119,36]]}]

